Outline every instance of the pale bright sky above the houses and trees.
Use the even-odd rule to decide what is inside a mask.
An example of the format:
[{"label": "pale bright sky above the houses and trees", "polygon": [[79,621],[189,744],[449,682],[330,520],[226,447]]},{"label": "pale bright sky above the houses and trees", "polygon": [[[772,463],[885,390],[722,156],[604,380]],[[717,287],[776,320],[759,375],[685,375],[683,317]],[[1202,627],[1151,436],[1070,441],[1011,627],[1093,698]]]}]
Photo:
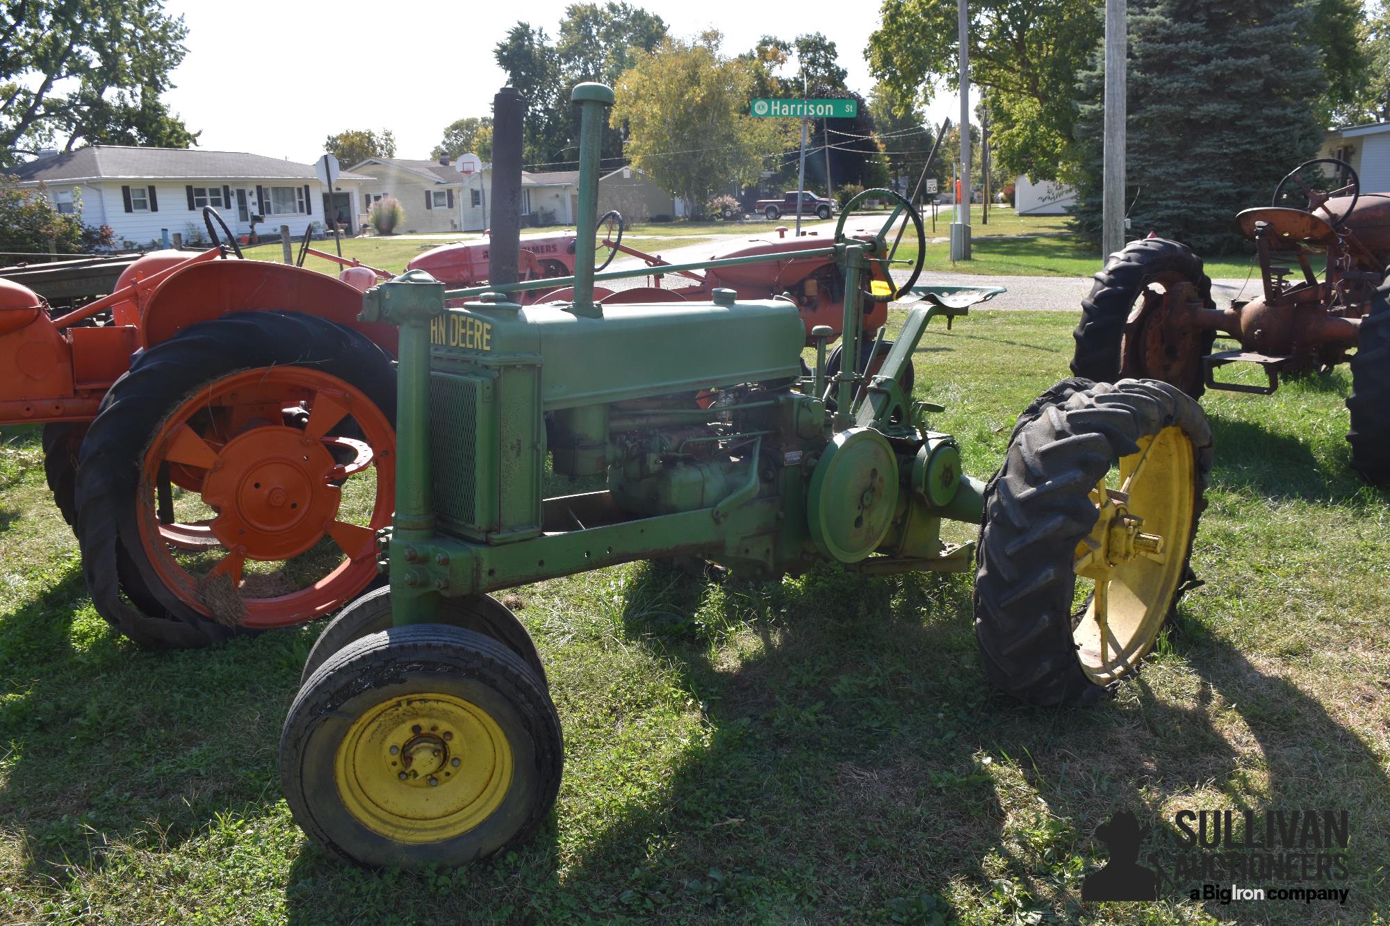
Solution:
[{"label": "pale bright sky above the houses and trees", "polygon": [[[847,83],[874,81],[863,50],[878,26],[877,0],[630,0],[678,36],[724,33],[724,51],[764,33],[824,32],[837,43]],[[555,35],[569,0],[512,6],[489,0],[167,0],[182,15],[188,56],[165,93],[199,147],[311,163],[328,135],[391,129],[398,157],[428,157],[449,122],[489,115],[506,75],[492,47],[518,19]],[[933,125],[959,115],[945,95],[926,108]]]}]

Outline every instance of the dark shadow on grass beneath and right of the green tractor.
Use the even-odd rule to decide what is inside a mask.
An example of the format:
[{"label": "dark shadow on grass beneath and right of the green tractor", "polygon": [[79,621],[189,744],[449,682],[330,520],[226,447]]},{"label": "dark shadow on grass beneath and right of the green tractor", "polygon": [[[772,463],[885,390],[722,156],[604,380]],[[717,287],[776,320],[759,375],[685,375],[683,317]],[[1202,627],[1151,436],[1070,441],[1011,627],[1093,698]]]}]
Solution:
[{"label": "dark shadow on grass beneath and right of the green tractor", "polygon": [[[566,887],[606,897],[605,913],[852,904],[855,918],[912,919],[965,883],[1001,915],[1070,919],[1081,869],[1102,854],[1097,826],[1204,788],[1201,806],[1237,812],[1352,809],[1354,838],[1376,843],[1352,866],[1372,902],[1386,840],[1371,834],[1390,829],[1376,756],[1315,697],[1200,627],[1166,644],[1193,672],[1165,653],[1116,701],[1040,709],[990,692],[965,577],[817,570],[759,585],[639,569],[627,638],[674,669],[708,733],[659,799],[570,868]],[[717,655],[733,637],[735,669]],[[1243,797],[1261,794],[1261,774],[1268,797]],[[616,872],[631,875],[614,886]],[[1305,922],[1294,907],[1287,922]]]}]

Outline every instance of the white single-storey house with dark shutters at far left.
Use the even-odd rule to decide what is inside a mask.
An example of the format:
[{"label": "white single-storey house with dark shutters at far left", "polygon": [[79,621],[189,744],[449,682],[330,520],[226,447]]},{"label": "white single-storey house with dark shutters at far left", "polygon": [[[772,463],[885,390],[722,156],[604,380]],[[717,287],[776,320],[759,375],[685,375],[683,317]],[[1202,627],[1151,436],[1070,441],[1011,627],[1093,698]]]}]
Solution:
[{"label": "white single-storey house with dark shutters at far left", "polygon": [[[247,234],[257,216],[259,234],[289,225],[292,235],[303,235],[329,209],[313,165],[243,152],[92,145],[7,172],[21,188],[43,184],[58,211],[79,214],[85,225],[110,225],[118,243],[132,246],[161,243],[175,232],[185,242],[206,238],[204,206],[236,235]],[[356,228],[353,206],[366,179],[350,171],[334,178],[329,218]]]}]

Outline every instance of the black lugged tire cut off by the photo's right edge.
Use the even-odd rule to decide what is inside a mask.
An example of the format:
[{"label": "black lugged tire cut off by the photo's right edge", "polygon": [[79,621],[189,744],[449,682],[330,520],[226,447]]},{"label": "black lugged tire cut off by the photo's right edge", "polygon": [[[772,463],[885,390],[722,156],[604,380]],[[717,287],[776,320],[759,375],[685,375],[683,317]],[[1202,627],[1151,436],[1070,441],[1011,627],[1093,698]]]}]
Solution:
[{"label": "black lugged tire cut off by the photo's right edge", "polygon": [[1390,485],[1390,279],[1376,289],[1351,357],[1351,469],[1372,485]]}]

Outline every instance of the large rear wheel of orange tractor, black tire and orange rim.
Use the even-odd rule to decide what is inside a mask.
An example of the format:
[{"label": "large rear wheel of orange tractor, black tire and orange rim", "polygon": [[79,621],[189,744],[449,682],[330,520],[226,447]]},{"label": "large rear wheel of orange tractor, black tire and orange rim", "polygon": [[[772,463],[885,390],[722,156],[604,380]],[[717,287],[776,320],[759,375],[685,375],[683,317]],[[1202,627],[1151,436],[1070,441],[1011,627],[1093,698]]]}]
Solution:
[{"label": "large rear wheel of orange tractor, black tire and orange rim", "polygon": [[336,610],[377,580],[395,407],[391,357],[317,316],[234,313],[140,353],[76,473],[97,612],[188,648]]}]

